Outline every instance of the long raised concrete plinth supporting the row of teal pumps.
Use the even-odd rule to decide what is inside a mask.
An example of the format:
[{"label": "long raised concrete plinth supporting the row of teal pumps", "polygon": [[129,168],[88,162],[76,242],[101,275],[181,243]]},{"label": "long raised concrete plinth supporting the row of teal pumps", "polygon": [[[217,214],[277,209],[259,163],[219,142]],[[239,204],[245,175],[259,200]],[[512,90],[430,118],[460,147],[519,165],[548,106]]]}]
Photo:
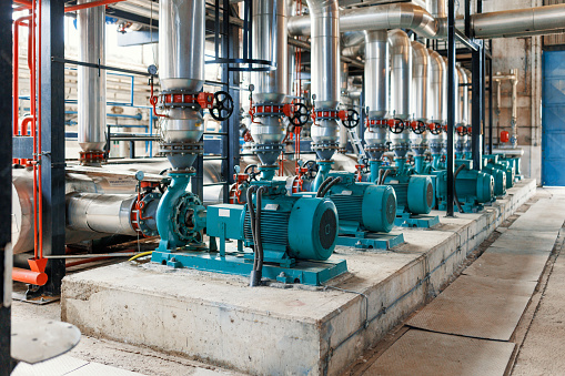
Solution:
[{"label": "long raised concrete plinth supporting the row of teal pumps", "polygon": [[261,375],[337,375],[434,296],[494,228],[535,193],[508,190],[483,213],[402,228],[393,251],[337,247],[350,273],[325,288],[248,286],[246,278],[122,263],[67,276],[62,319],[83,334]]}]

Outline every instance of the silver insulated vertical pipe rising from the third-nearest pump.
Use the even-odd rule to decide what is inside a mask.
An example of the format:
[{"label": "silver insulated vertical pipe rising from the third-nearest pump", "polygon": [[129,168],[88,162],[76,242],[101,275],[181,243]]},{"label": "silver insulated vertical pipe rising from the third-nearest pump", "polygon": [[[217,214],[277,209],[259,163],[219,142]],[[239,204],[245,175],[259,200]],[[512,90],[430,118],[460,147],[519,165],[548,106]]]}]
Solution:
[{"label": "silver insulated vertical pipe rising from the third-nearest pump", "polygon": [[[337,0],[307,0],[310,9],[312,95],[315,110],[336,110],[340,104],[340,9]],[[339,142],[337,119],[317,119],[311,128],[313,148],[321,161],[330,161]]]}]

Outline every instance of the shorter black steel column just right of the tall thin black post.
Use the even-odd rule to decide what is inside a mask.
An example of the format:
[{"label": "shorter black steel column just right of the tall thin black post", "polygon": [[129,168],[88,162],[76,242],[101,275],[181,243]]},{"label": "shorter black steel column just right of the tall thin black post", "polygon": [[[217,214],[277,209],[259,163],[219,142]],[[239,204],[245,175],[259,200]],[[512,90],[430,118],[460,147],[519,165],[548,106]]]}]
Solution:
[{"label": "shorter black steel column just right of the tall thin black post", "polygon": [[482,41],[477,41],[480,43],[480,48],[477,51],[472,51],[472,65],[473,65],[473,75],[472,75],[472,88],[473,88],[473,115],[472,124],[471,124],[471,150],[473,152],[473,169],[481,171],[482,166],[482,132],[481,125],[483,122],[483,105],[484,105],[484,48],[482,45]]}]

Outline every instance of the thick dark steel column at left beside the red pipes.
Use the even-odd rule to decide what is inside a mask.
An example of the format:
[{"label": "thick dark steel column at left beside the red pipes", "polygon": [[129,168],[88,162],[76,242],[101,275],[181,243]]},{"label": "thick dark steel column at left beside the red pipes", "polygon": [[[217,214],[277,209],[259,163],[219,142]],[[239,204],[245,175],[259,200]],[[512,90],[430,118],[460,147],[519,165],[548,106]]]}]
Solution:
[{"label": "thick dark steel column at left beside the red pipes", "polygon": [[[64,255],[64,0],[41,0],[43,254]],[[64,260],[50,260],[47,295],[61,294]]]}]

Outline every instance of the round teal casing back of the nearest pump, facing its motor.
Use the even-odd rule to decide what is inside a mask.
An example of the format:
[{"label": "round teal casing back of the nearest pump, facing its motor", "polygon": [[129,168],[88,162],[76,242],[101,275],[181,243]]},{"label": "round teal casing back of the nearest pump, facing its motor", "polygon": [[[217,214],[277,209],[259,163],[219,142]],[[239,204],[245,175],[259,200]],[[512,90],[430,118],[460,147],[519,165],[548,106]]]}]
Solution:
[{"label": "round teal casing back of the nearest pump, facing its motor", "polygon": [[200,199],[185,192],[176,200],[174,207],[172,223],[175,234],[186,243],[199,238],[200,231],[203,230],[201,214],[205,211]]}]

